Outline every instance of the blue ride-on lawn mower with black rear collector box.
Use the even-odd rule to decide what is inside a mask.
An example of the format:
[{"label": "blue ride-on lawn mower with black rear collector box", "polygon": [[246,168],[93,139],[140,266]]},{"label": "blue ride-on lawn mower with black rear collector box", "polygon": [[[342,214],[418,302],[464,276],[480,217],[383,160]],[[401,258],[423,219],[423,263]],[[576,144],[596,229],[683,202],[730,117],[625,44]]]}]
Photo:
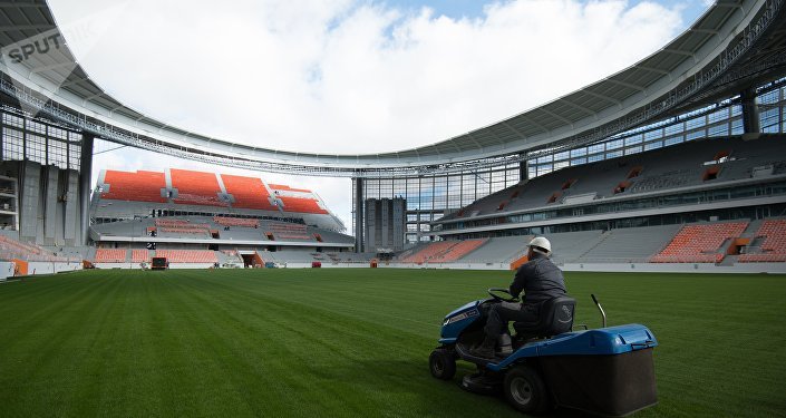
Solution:
[{"label": "blue ride-on lawn mower with black rear collector box", "polygon": [[515,333],[503,334],[494,359],[472,356],[484,339],[486,312],[506,289],[489,289],[491,299],[469,302],[445,317],[439,347],[429,357],[431,375],[450,380],[456,360],[477,364],[462,380],[466,390],[503,392],[520,411],[543,414],[550,408],[575,408],[604,416],[625,416],[658,402],[652,348],[658,342],[641,324],[573,331],[575,300],[560,297],[543,302],[537,324],[514,322]]}]

